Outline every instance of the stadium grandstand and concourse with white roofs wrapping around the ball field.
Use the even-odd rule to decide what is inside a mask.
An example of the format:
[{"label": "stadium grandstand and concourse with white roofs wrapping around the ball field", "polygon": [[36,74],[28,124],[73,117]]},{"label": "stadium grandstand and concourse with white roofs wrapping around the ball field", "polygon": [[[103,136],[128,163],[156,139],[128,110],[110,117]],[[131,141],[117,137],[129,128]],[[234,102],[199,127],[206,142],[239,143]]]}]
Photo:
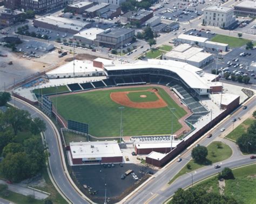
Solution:
[{"label": "stadium grandstand and concourse with white roofs wrapping around the ball field", "polygon": [[[71,78],[72,76],[75,77]],[[117,64],[117,62],[100,58],[93,62],[75,60],[75,62],[70,62],[46,73],[45,77],[47,80],[44,83],[39,82],[26,88],[18,87],[15,93],[17,96],[36,103],[36,96],[40,94],[36,95],[37,91],[35,92],[35,90],[44,89],[44,87],[54,88],[50,90],[49,94],[57,92],[55,86],[65,86],[65,89],[62,87],[64,92],[148,84],[168,87],[176,94],[180,103],[190,109],[192,115],[186,118],[185,122],[191,127],[191,132],[183,135],[181,140],[171,139],[171,146],[170,138],[162,138],[159,141],[160,135],[148,140],[136,140],[136,142],[124,139],[127,145],[129,146],[130,143],[138,154],[139,152],[149,153],[146,162],[159,167],[174,158],[182,149],[198,139],[212,125],[217,124],[240,103],[240,94],[224,91],[223,84],[218,81],[218,76],[174,60],[137,60],[132,64]],[[28,98],[27,95],[30,97]]]}]

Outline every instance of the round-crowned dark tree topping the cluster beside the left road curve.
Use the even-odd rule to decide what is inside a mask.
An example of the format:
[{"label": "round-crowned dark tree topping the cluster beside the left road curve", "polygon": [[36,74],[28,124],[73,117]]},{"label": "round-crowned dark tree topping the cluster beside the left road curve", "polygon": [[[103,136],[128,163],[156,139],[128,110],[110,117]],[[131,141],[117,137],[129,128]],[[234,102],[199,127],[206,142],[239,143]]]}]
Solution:
[{"label": "round-crowned dark tree topping the cluster beside the left road curve", "polygon": [[28,111],[19,110],[16,108],[9,108],[4,113],[4,120],[6,123],[12,126],[15,135],[17,135],[18,131],[29,127],[31,121]]}]

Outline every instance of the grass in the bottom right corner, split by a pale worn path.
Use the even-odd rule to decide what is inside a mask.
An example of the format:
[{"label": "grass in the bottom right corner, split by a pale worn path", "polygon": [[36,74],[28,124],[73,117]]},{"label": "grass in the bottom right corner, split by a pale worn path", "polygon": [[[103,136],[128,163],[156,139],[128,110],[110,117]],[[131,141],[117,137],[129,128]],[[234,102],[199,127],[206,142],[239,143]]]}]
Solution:
[{"label": "grass in the bottom right corner, split by a pale worn path", "polygon": [[[256,203],[256,164],[233,169],[235,179],[225,180],[224,194],[232,196],[239,203]],[[216,176],[198,184],[207,191],[219,193]]]}]

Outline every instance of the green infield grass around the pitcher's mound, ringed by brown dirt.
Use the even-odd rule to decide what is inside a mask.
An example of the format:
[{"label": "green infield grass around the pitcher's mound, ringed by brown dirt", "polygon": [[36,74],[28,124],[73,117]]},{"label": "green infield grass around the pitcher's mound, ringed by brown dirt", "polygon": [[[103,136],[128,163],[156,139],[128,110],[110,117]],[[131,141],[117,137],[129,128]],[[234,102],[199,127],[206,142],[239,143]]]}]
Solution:
[{"label": "green infield grass around the pitcher's mound, ringed by brown dirt", "polygon": [[[141,95],[146,96],[146,98],[140,97]],[[157,95],[150,91],[130,92],[127,94],[127,96],[131,101],[138,103],[158,100]]]}]

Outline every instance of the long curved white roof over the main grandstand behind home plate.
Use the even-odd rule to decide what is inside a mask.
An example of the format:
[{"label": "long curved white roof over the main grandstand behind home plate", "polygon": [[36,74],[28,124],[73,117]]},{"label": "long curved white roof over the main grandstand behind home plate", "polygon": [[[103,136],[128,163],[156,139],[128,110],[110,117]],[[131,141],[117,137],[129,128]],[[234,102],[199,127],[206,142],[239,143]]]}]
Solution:
[{"label": "long curved white roof over the main grandstand behind home plate", "polygon": [[[147,61],[137,61],[134,64],[106,65],[104,68],[106,71],[149,68],[164,69],[177,73],[178,76],[193,89],[210,89],[208,83],[211,81],[209,80],[209,76],[204,77],[206,73],[203,73],[203,71],[196,66],[192,66],[183,62],[177,62],[174,60],[148,59]],[[214,79],[215,76],[213,74],[210,75]]]}]

